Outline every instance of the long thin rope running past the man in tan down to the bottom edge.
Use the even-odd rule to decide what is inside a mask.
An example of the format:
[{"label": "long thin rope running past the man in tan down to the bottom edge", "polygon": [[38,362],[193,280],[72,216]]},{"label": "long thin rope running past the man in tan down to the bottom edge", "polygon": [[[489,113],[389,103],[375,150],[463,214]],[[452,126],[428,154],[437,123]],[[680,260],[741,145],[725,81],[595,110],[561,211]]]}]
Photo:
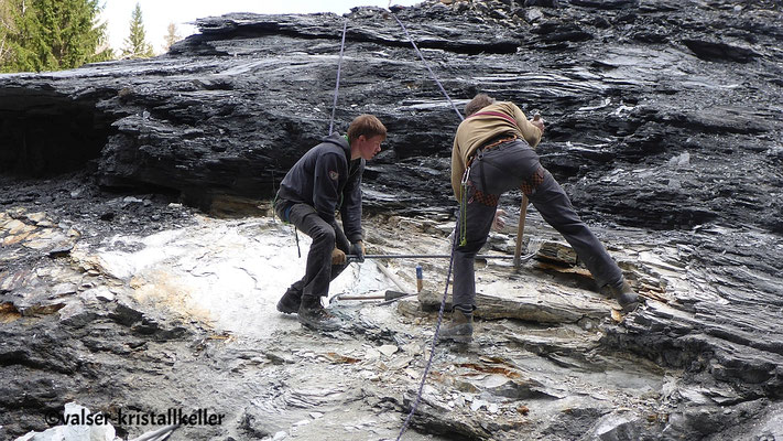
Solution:
[{"label": "long thin rope running past the man in tan down to the bottom edge", "polygon": [[[391,4],[391,1],[389,2]],[[424,60],[424,55],[422,55],[422,51],[418,50],[418,46],[416,46],[416,42],[413,41],[413,37],[411,34],[407,32],[407,29],[405,29],[405,25],[402,24],[402,21],[398,19],[398,17],[394,14],[394,12],[389,9],[389,12],[391,15],[396,20],[396,22],[400,24],[400,28],[402,28],[402,31],[405,33],[405,36],[407,36],[407,40],[411,42],[411,45],[413,49],[416,51],[416,54],[418,54],[418,57],[422,60],[422,63],[424,63],[424,66],[427,68],[429,72],[429,76],[435,80],[437,86],[441,88],[441,92],[443,95],[446,97],[448,103],[452,105],[452,108],[454,108],[454,111],[457,114],[459,117],[460,121],[465,120],[465,117],[463,117],[463,114],[459,112],[459,109],[457,109],[457,106],[455,106],[454,101],[452,101],[452,98],[448,96],[446,93],[446,89],[443,87],[443,84],[441,84],[441,80],[437,78],[437,75],[433,72],[432,68],[429,68],[429,64],[427,64],[426,60]],[[464,187],[465,185],[463,185]],[[464,202],[465,202],[465,189],[463,189],[463,201],[460,201],[460,213],[464,211]],[[461,222],[465,222],[465,215],[461,213],[460,216]],[[422,374],[422,380],[418,384],[418,391],[416,392],[416,399],[413,401],[413,406],[411,406],[411,411],[407,413],[407,417],[405,418],[405,422],[402,424],[402,429],[400,429],[400,434],[396,437],[396,441],[400,441],[402,439],[402,435],[405,433],[407,430],[407,427],[411,424],[411,420],[413,419],[413,415],[416,413],[416,409],[418,409],[418,405],[422,402],[422,395],[424,394],[424,385],[427,380],[427,375],[429,374],[429,369],[433,366],[433,357],[435,356],[435,345],[437,344],[437,337],[438,334],[441,333],[441,324],[443,323],[443,311],[446,308],[446,298],[448,297],[448,282],[452,279],[452,269],[454,267],[454,251],[457,249],[457,241],[459,240],[459,234],[454,235],[454,240],[452,241],[452,257],[448,261],[448,271],[446,273],[446,289],[443,291],[443,299],[441,299],[441,309],[438,310],[437,313],[437,324],[435,325],[435,334],[433,335],[433,342],[429,346],[429,358],[427,359],[427,364],[424,367],[424,373]]]}]

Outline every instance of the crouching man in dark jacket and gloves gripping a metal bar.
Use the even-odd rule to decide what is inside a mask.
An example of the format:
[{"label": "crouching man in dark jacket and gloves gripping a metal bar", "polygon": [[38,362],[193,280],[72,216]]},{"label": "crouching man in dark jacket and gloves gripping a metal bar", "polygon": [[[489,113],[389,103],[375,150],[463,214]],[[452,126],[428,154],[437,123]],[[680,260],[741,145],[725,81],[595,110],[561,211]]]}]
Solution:
[{"label": "crouching man in dark jacket and gloves gripping a metal bar", "polygon": [[[334,133],[307,151],[283,179],[274,209],[284,222],[313,238],[302,280],[289,288],[278,311],[296,312],[302,324],[334,331],[340,322],[323,306],[329,282],[346,268],[346,254],[362,259],[361,174],[365,161],[381,151],[387,128],[372,115],[351,121],[346,136]],[[345,233],[337,226],[339,211]]]}]

